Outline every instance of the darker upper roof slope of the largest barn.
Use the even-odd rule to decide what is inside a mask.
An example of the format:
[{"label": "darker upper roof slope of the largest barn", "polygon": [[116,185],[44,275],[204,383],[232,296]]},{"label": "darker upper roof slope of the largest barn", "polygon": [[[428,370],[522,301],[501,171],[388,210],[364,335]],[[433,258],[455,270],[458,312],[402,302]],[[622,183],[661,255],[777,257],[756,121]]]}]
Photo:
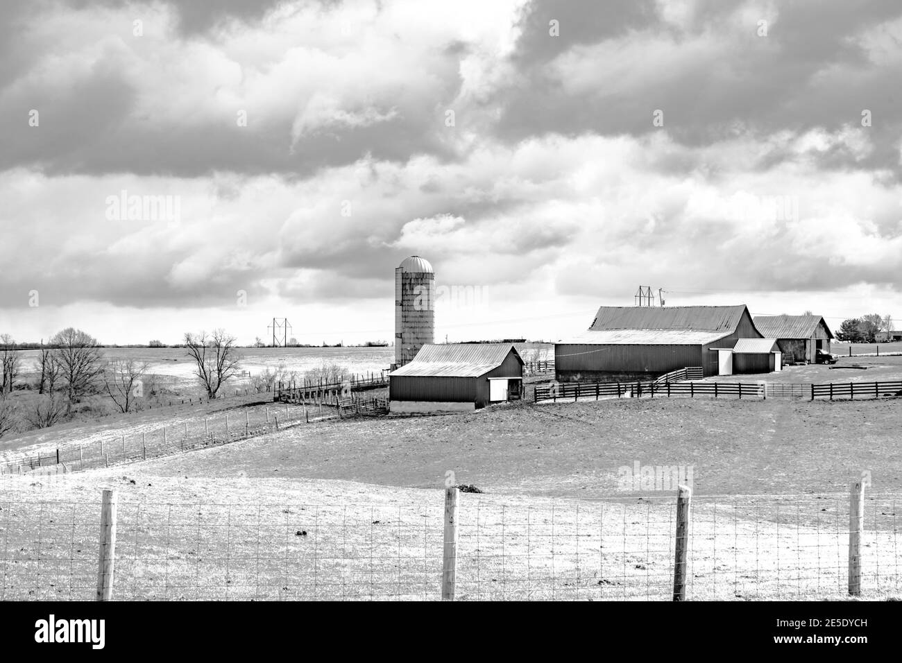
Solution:
[{"label": "darker upper roof slope of the largest barn", "polygon": [[739,327],[745,305],[740,306],[603,306],[590,327],[609,329],[674,329],[723,332],[727,336]]}]

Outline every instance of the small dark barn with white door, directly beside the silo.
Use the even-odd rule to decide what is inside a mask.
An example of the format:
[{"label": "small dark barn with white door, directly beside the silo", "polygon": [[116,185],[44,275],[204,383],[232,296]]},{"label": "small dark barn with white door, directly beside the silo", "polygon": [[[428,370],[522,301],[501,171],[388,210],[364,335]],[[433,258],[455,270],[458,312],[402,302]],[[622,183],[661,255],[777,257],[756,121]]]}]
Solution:
[{"label": "small dark barn with white door, directly beside the silo", "polygon": [[466,411],[523,393],[523,360],[510,343],[423,345],[389,373],[392,412]]}]

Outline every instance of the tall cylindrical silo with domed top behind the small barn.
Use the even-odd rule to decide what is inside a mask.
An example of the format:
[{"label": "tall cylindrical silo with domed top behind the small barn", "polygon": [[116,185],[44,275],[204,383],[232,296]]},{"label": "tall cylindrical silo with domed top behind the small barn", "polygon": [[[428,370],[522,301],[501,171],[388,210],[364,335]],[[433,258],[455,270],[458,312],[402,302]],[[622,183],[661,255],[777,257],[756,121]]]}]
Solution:
[{"label": "tall cylindrical silo with domed top behind the small barn", "polygon": [[395,364],[410,362],[419,348],[435,342],[436,274],[419,255],[395,269]]}]

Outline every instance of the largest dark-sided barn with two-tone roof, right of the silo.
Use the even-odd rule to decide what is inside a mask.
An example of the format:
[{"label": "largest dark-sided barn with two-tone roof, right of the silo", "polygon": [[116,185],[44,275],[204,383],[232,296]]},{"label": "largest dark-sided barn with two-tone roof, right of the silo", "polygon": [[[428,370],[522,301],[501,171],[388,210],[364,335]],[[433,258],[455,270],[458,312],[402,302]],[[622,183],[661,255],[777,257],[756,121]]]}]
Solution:
[{"label": "largest dark-sided barn with two-tone roof, right of the silo", "polygon": [[688,366],[717,375],[723,353],[748,338],[763,335],[744,305],[603,306],[588,331],[555,345],[555,370],[561,382],[641,380]]}]

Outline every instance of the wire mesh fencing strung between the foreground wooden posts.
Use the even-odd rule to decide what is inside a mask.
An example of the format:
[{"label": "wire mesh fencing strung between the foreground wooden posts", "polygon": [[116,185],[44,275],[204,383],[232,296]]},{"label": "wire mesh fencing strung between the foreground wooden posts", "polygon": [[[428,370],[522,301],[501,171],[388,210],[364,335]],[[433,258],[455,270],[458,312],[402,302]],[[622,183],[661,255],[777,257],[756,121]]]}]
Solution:
[{"label": "wire mesh fencing strung between the foreground wooden posts", "polygon": [[[866,495],[861,596],[902,592],[902,495]],[[686,598],[849,594],[850,496],[695,496]],[[90,600],[101,500],[0,497],[0,600]],[[670,600],[673,495],[524,501],[461,493],[456,600]],[[428,503],[119,501],[116,600],[438,600],[447,580],[442,493]],[[112,578],[111,578],[112,581]]]}]

